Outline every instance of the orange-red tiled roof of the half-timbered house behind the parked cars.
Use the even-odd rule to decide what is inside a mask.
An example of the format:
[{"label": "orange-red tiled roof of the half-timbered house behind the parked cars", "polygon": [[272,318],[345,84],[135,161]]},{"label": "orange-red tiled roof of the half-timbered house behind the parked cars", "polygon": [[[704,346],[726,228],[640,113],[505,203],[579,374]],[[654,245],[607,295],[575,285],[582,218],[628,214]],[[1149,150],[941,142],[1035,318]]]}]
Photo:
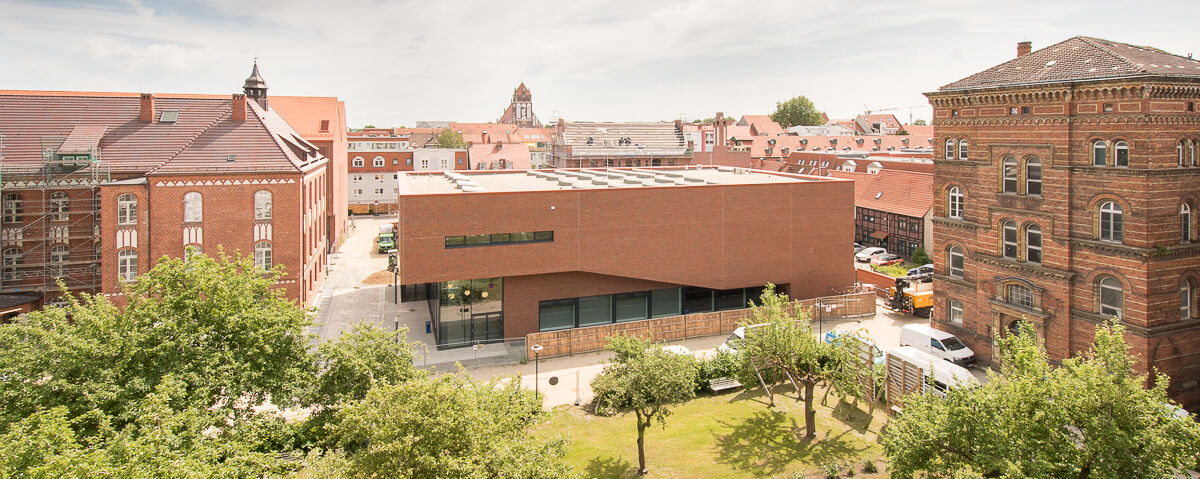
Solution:
[{"label": "orange-red tiled roof of the half-timbered house behind the parked cars", "polygon": [[854,206],[923,217],[934,208],[934,175],[883,169],[877,174],[834,170],[833,178],[854,180]]}]

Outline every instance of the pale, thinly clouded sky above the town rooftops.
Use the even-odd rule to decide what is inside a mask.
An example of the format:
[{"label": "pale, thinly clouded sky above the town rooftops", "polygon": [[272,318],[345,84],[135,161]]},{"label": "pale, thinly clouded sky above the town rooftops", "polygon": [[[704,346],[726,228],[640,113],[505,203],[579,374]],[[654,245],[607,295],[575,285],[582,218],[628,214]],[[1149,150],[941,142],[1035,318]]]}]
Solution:
[{"label": "pale, thinly clouded sky above the town rooftops", "polygon": [[[1174,13],[1169,13],[1174,12]],[[1195,0],[0,0],[0,89],[337,96],[352,127],[769,114],[929,119],[923,92],[1076,35],[1200,55]]]}]

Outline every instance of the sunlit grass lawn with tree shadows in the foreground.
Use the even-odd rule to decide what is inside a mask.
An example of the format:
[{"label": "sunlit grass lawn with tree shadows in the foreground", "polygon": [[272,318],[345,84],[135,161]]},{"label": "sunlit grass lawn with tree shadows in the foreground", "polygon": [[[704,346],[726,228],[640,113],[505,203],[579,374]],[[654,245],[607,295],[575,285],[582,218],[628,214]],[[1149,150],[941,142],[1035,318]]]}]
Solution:
[{"label": "sunlit grass lawn with tree shadows in the foreground", "polygon": [[[829,396],[821,405],[817,390],[817,437],[805,439],[804,403],[791,389],[775,395],[767,407],[761,389],[700,397],[678,406],[666,429],[646,430],[647,478],[823,478],[821,465],[848,461],[856,478],[886,477],[882,448],[876,441],[887,420],[884,407],[868,415],[857,407]],[[570,438],[568,462],[586,478],[634,478],[637,469],[637,427],[634,414],[596,417],[578,407],[556,408],[544,433]],[[863,461],[872,460],[881,473],[863,473]],[[842,471],[842,477],[846,472]]]}]

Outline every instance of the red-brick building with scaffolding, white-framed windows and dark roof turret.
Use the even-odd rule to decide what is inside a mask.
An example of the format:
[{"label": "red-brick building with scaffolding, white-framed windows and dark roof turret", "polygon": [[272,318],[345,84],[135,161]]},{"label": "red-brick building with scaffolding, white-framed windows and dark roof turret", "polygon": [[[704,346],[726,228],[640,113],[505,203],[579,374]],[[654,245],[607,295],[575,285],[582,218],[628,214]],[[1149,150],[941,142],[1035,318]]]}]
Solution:
[{"label": "red-brick building with scaffolding, white-framed windows and dark roof turret", "polygon": [[[245,94],[0,92],[0,293],[121,285],[186,249],[282,264],[312,304],[324,279],[329,160]],[[40,300],[41,301],[41,300]]]}]

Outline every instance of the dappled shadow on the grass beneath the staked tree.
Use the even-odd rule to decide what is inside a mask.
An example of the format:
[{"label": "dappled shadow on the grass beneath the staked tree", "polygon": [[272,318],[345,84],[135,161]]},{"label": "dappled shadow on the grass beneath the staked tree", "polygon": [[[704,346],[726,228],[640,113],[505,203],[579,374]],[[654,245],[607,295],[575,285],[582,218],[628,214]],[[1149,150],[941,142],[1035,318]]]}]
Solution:
[{"label": "dappled shadow on the grass beneath the staked tree", "polygon": [[[848,431],[832,435],[818,424],[817,438],[804,437],[803,419],[793,413],[758,411],[740,421],[719,421],[730,432],[716,437],[718,462],[755,475],[774,475],[792,462],[816,466],[832,459],[851,462],[866,450],[853,443]],[[823,436],[824,435],[824,436]]]}]

